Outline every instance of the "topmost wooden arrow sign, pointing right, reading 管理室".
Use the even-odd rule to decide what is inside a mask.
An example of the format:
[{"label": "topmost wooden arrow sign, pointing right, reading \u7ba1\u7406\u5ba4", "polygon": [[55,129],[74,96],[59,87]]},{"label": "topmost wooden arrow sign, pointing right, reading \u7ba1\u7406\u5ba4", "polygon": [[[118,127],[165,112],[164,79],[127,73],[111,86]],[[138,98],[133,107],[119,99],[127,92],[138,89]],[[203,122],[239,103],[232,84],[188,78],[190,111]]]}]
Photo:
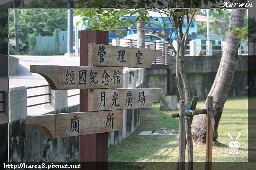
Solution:
[{"label": "topmost wooden arrow sign, pointing right, reading \u7ba1\u7406\u5ba4", "polygon": [[88,56],[89,66],[150,68],[162,51],[89,44]]}]

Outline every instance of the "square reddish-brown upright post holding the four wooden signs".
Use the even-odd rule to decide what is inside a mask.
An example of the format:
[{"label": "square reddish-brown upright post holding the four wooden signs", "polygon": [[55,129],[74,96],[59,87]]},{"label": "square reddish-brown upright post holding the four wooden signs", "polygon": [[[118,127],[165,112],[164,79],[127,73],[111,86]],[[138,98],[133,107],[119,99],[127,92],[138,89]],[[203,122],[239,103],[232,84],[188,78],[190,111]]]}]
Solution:
[{"label": "square reddish-brown upright post holding the four wooden signs", "polygon": [[[84,30],[80,33],[80,66],[88,66],[88,44],[108,44],[108,32]],[[88,90],[80,89],[80,112],[88,111]],[[108,161],[108,133],[79,136],[80,162]]]}]

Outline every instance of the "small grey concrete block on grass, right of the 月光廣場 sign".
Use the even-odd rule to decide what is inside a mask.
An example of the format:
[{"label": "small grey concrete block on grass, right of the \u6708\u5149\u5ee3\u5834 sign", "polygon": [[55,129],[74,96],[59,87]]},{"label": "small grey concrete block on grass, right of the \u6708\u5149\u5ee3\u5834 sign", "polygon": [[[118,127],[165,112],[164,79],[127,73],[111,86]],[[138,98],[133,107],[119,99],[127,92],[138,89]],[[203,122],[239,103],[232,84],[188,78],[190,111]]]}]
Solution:
[{"label": "small grey concrete block on grass, right of the \u6708\u5149\u5ee3\u5834 sign", "polygon": [[175,110],[178,105],[177,96],[162,96],[160,97],[160,110]]}]

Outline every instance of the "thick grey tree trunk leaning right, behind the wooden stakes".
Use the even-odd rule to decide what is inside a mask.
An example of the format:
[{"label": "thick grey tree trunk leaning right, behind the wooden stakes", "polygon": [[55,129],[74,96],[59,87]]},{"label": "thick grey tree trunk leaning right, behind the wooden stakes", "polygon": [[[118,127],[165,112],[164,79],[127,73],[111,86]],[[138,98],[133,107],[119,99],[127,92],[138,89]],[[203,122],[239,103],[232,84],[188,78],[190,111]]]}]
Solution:
[{"label": "thick grey tree trunk leaning right, behind the wooden stakes", "polygon": [[[232,84],[235,68],[237,65],[237,51],[241,44],[240,39],[236,39],[235,33],[229,32],[233,27],[244,27],[244,15],[246,9],[232,9],[231,18],[228,26],[228,35],[225,41],[225,47],[219,64],[216,77],[208,96],[213,96],[214,110],[214,131],[218,138],[218,125],[222,115],[223,106],[227,100],[228,91]],[[206,109],[206,102],[202,109]],[[195,142],[206,143],[206,115],[198,115],[192,124],[192,136]]]}]

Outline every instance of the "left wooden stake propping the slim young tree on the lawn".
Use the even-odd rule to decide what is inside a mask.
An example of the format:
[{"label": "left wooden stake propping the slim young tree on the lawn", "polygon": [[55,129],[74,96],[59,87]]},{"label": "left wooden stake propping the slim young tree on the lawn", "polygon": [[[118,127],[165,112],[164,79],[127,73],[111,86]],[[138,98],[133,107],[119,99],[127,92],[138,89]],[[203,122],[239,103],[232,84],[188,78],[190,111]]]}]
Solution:
[{"label": "left wooden stake propping the slim young tree on the lawn", "polygon": [[179,170],[185,170],[185,101],[179,101]]}]

